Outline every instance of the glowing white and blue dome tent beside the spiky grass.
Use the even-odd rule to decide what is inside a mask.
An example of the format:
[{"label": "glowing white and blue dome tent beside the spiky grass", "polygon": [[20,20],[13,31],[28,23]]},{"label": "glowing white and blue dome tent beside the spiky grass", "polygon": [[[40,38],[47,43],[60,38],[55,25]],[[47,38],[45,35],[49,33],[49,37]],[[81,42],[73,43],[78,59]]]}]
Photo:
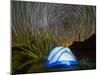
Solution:
[{"label": "glowing white and blue dome tent beside the spiky grass", "polygon": [[77,60],[69,48],[56,47],[49,54],[46,67],[48,68],[48,67],[54,67],[58,65],[68,67],[76,64],[77,64]]}]

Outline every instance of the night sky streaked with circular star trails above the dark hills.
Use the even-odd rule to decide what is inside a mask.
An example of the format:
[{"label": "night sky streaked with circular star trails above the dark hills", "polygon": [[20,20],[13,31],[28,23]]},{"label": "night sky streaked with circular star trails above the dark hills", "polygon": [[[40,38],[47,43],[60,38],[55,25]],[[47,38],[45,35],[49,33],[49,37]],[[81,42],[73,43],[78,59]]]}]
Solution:
[{"label": "night sky streaked with circular star trails above the dark hills", "polygon": [[50,27],[56,39],[84,41],[96,33],[96,7],[12,1],[13,36]]}]

